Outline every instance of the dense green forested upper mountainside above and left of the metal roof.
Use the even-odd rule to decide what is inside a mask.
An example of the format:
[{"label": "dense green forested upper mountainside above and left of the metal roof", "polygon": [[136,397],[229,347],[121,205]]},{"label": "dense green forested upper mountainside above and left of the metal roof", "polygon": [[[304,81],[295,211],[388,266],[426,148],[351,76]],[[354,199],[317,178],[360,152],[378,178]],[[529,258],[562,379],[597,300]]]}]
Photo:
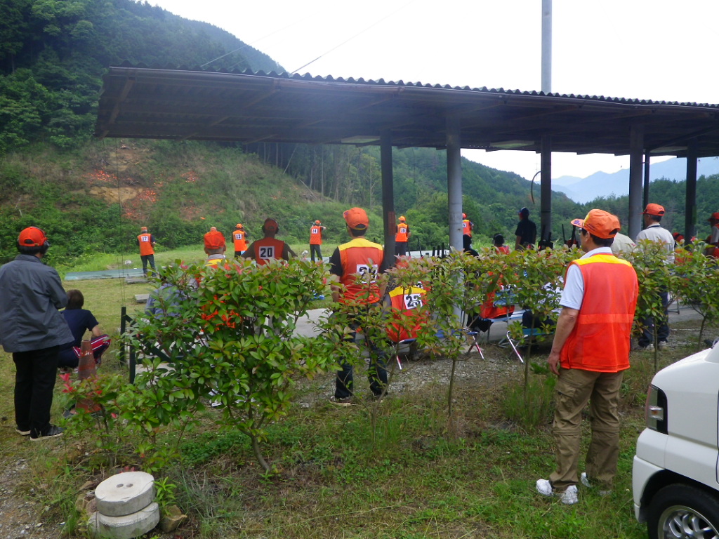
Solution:
[{"label": "dense green forested upper mountainside above and left of the metal roof", "polygon": [[109,65],[216,58],[206,68],[279,69],[229,32],[147,1],[0,0],[0,155],[40,140],[76,147],[88,139]]}]

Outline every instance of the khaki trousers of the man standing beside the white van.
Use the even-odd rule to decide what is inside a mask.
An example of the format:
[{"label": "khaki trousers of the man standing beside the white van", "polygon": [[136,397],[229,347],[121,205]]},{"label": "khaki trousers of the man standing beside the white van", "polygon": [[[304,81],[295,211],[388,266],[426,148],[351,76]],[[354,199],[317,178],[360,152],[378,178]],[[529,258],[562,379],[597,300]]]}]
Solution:
[{"label": "khaki trousers of the man standing beside the white van", "polygon": [[611,487],[619,458],[619,390],[622,372],[560,369],[554,388],[554,423],[557,470],[549,482],[557,492],[577,484],[582,410],[590,403],[592,440],[587,451],[586,472],[600,487]]}]

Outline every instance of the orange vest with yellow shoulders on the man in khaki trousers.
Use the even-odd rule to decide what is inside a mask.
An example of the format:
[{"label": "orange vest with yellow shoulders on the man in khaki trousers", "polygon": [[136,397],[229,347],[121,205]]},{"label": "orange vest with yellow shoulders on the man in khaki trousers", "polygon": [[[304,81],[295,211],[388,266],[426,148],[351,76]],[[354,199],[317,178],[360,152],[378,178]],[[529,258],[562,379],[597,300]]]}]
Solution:
[{"label": "orange vest with yellow shoulders on the man in khaki trousers", "polygon": [[629,368],[631,325],[639,287],[636,272],[613,254],[574,260],[584,298],[572,333],[559,354],[564,369],[620,372]]}]

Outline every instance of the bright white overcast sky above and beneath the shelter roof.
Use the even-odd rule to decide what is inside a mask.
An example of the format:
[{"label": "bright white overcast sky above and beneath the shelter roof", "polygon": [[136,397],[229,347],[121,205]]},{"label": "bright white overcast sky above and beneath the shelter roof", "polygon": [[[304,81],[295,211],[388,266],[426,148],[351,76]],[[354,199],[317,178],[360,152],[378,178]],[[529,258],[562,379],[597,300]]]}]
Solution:
[{"label": "bright white overcast sky above and beneath the shelter roof", "polygon": [[[209,22],[299,73],[541,89],[541,0],[150,0]],[[557,93],[719,103],[718,0],[554,0]],[[208,58],[211,60],[211,58]],[[531,179],[539,154],[463,150]],[[659,162],[659,160],[656,160]],[[628,157],[554,153],[552,177]]]}]

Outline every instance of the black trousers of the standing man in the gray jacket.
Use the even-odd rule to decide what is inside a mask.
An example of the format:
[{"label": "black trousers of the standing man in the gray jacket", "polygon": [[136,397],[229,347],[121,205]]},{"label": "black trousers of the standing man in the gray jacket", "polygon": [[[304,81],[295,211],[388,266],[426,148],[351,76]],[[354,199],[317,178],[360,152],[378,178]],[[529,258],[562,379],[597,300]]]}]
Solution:
[{"label": "black trousers of the standing man in the gray jacket", "polygon": [[52,389],[58,374],[60,346],[13,352],[15,362],[15,423],[35,436],[50,428]]}]

